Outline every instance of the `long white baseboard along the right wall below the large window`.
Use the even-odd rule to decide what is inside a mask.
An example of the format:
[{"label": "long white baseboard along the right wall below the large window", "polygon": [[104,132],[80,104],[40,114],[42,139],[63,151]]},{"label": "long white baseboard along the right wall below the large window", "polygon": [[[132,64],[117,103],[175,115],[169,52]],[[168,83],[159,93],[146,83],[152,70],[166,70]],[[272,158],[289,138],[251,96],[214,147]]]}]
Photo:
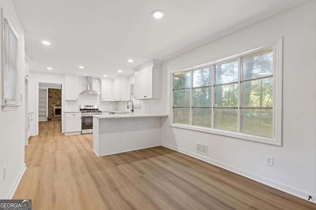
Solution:
[{"label": "long white baseboard along the right wall below the large window", "polygon": [[219,162],[217,160],[211,159],[211,158],[209,158],[207,156],[203,156],[203,155],[200,155],[198,153],[194,153],[194,152],[188,151],[188,150],[183,150],[183,149],[174,147],[174,146],[169,145],[169,144],[162,143],[161,146],[169,148],[171,150],[175,150],[175,151],[187,154],[187,155],[189,155],[191,157],[194,157],[194,158],[197,158],[199,160],[205,161],[207,163],[213,164],[213,165],[218,166],[220,168],[223,168],[223,169],[226,169],[226,170],[231,171],[233,173],[236,173],[236,174],[238,174],[240,176],[249,178],[251,180],[258,181],[260,183],[263,183],[265,185],[271,186],[273,188],[276,188],[276,189],[281,190],[283,192],[289,193],[289,194],[294,195],[296,197],[302,198],[304,200],[308,200],[309,196],[312,196],[312,198],[314,198],[314,200],[310,200],[310,202],[316,204],[316,195],[314,195],[312,193],[305,192],[305,191],[303,191],[301,189],[298,189],[296,187],[292,187],[292,186],[289,186],[287,184],[284,184],[284,183],[281,183],[281,182],[278,182],[278,181],[275,181],[275,180],[270,180],[270,179],[264,178],[262,176],[259,176],[259,175],[247,172],[245,170],[238,169],[238,168],[236,168],[234,166],[227,165],[225,163],[222,163],[222,162]]}]

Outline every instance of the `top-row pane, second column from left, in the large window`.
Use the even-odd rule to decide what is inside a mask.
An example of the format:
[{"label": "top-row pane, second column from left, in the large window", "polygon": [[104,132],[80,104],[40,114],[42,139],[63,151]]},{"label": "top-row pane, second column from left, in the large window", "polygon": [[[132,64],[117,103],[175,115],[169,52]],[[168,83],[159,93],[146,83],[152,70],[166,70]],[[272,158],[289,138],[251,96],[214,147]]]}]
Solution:
[{"label": "top-row pane, second column from left, in the large window", "polygon": [[212,67],[193,71],[193,87],[205,87],[212,85]]}]

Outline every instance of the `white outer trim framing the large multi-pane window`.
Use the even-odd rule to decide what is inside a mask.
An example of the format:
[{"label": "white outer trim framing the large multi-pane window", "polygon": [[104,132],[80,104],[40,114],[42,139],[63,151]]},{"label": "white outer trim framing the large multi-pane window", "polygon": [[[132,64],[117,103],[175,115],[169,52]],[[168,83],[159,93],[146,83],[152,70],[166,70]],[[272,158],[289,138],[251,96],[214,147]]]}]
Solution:
[{"label": "white outer trim framing the large multi-pane window", "polygon": [[[228,136],[228,137],[233,137],[233,138],[238,138],[238,139],[243,139],[243,140],[250,140],[254,142],[261,142],[261,143],[266,143],[266,144],[271,144],[271,145],[277,145],[281,146],[282,145],[282,70],[283,70],[283,62],[282,62],[282,49],[283,49],[283,41],[282,37],[280,37],[278,40],[271,42],[270,44],[267,44],[265,46],[257,47],[252,50],[248,51],[243,51],[240,53],[237,53],[232,56],[228,56],[222,59],[217,59],[217,60],[212,60],[210,62],[206,63],[201,63],[198,65],[195,65],[193,67],[189,67],[186,69],[182,70],[174,70],[170,71],[170,124],[169,126],[171,127],[176,127],[176,128],[183,128],[183,129],[189,129],[189,130],[194,130],[194,131],[200,131],[200,132],[206,132],[206,133],[212,133],[212,134],[217,134],[217,135],[223,135],[223,136]],[[227,130],[220,130],[216,128],[206,128],[206,127],[199,127],[195,125],[185,125],[185,124],[177,124],[177,123],[172,123],[173,122],[173,111],[172,111],[172,103],[173,103],[173,77],[172,75],[175,72],[181,72],[181,71],[188,71],[192,69],[197,69],[201,68],[204,66],[209,66],[214,63],[222,62],[225,60],[230,60],[232,58],[237,58],[240,56],[244,56],[247,54],[250,54],[254,51],[259,51],[260,49],[267,48],[269,46],[274,46],[275,53],[274,53],[274,72],[273,72],[273,94],[274,94],[274,101],[273,101],[273,138],[266,138],[266,137],[261,137],[261,136],[255,136],[255,135],[249,135],[249,134],[244,134],[244,133],[238,133],[238,132],[233,132],[233,131],[227,131]]]}]

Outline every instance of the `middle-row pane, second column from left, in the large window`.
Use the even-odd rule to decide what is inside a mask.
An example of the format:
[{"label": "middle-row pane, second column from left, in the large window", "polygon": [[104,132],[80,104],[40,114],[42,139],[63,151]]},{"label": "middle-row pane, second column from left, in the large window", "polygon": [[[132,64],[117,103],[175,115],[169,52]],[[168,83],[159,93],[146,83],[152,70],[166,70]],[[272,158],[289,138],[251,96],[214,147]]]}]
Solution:
[{"label": "middle-row pane, second column from left, in the large window", "polygon": [[193,90],[193,107],[211,107],[212,89],[197,88]]}]

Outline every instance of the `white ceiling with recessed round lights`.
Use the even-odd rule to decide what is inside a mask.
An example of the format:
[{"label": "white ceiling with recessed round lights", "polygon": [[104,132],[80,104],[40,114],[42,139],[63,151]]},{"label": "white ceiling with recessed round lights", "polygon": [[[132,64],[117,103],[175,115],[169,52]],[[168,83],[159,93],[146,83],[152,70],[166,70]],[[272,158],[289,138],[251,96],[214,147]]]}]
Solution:
[{"label": "white ceiling with recessed round lights", "polygon": [[[131,75],[131,68],[147,60],[170,59],[310,0],[12,1],[25,30],[31,70],[112,78]],[[153,18],[154,9],[162,9],[165,16]]]}]

